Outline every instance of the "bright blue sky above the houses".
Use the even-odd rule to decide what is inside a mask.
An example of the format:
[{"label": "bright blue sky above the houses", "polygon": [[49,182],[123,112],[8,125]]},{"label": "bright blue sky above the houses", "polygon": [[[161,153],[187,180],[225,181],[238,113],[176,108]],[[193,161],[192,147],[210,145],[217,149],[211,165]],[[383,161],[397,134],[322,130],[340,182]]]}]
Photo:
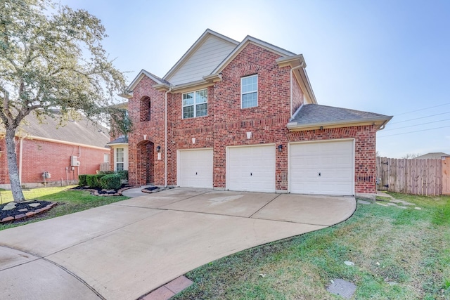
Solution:
[{"label": "bright blue sky above the houses", "polygon": [[60,0],[99,18],[128,82],[163,77],[207,28],[302,53],[321,105],[394,116],[380,156],[450,154],[448,0]]}]

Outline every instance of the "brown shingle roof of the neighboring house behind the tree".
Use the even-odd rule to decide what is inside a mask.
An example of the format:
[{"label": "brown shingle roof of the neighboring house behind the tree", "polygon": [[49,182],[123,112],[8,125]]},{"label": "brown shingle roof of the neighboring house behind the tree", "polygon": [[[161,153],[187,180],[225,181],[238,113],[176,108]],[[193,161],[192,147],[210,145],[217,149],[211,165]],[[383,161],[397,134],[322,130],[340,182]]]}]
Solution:
[{"label": "brown shingle roof of the neighboring house behind the tree", "polygon": [[[57,114],[56,117],[58,117]],[[105,148],[105,144],[110,141],[108,129],[95,125],[86,118],[69,120],[65,126],[58,126],[58,119],[46,117],[42,123],[39,123],[39,119],[34,114],[25,117],[25,122],[20,125],[16,136],[101,148]]]}]

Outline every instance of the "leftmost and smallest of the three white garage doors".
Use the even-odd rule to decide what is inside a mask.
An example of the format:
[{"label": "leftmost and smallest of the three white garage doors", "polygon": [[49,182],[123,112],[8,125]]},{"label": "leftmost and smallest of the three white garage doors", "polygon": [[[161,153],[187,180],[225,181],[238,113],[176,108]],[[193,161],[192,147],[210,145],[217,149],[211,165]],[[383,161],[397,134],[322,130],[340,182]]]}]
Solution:
[{"label": "leftmost and smallest of the three white garage doors", "polygon": [[212,149],[179,150],[177,185],[185,188],[212,188]]}]

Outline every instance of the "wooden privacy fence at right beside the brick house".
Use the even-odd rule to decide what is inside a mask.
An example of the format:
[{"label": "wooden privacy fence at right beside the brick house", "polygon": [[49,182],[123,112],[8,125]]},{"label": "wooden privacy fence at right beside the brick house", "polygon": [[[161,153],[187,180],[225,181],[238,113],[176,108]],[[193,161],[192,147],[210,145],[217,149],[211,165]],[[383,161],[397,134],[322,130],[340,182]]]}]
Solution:
[{"label": "wooden privacy fence at right beside the brick house", "polygon": [[[446,159],[450,162],[450,157]],[[446,159],[377,157],[377,188],[413,195],[442,195],[444,183],[445,194],[450,176],[445,167]]]}]

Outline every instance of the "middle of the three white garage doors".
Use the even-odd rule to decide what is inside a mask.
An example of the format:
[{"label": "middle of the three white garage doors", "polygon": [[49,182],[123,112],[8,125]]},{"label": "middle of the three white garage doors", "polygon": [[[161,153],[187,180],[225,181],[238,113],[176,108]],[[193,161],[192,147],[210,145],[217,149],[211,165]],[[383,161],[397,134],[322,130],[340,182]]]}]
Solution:
[{"label": "middle of the three white garage doors", "polygon": [[229,190],[275,192],[275,145],[229,147],[226,166]]}]

